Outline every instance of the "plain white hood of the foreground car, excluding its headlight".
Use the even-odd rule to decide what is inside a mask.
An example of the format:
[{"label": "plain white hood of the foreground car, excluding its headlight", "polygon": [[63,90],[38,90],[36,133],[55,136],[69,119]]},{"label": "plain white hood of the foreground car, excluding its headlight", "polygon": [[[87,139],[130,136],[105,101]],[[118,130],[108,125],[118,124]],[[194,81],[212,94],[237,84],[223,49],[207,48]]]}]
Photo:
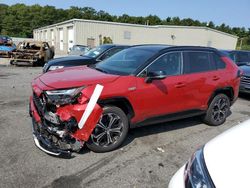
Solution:
[{"label": "plain white hood of the foreground car, excluding its headlight", "polygon": [[204,158],[216,188],[250,187],[250,120],[208,142]]}]

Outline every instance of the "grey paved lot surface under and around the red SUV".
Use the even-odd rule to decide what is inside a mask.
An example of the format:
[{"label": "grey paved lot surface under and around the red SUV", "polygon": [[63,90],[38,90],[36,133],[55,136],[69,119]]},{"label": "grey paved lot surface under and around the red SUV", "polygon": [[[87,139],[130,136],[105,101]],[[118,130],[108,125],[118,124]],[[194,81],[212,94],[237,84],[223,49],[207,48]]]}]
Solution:
[{"label": "grey paved lot surface under and around the red SUV", "polygon": [[[1,61],[0,61],[1,62]],[[71,159],[49,156],[33,143],[28,115],[30,82],[41,67],[0,67],[0,187],[167,187],[176,170],[198,148],[250,116],[243,95],[219,127],[199,118],[133,129],[109,153],[84,148]]]}]

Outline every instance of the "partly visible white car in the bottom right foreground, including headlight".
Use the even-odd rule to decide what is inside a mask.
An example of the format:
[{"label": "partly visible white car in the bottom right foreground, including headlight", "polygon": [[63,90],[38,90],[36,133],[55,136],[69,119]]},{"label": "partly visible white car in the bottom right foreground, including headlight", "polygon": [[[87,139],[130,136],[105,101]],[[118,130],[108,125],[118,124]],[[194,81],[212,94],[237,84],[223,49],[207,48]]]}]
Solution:
[{"label": "partly visible white car in the bottom right foreground, including headlight", "polygon": [[250,187],[250,120],[198,149],[172,177],[168,187]]}]

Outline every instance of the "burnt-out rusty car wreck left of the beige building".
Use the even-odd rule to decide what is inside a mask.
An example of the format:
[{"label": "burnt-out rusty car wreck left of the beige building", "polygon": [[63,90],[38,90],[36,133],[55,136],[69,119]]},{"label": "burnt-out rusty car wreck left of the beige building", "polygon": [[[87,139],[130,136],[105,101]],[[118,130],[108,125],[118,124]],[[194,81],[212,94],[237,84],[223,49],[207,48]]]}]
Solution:
[{"label": "burnt-out rusty car wreck left of the beige building", "polygon": [[45,62],[54,57],[54,47],[50,47],[47,42],[42,41],[23,41],[17,45],[12,52],[10,64],[18,65],[21,63],[32,66],[43,66]]}]

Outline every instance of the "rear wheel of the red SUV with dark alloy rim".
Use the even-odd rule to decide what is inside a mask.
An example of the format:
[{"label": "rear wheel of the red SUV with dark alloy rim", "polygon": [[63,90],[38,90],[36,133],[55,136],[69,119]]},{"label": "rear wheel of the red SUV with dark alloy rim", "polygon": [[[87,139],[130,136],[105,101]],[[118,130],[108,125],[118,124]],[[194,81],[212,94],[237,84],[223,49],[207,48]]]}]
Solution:
[{"label": "rear wheel of the red SUV with dark alloy rim", "polygon": [[230,101],[225,94],[216,95],[210,103],[206,115],[203,117],[204,123],[218,126],[226,121],[230,110]]}]

